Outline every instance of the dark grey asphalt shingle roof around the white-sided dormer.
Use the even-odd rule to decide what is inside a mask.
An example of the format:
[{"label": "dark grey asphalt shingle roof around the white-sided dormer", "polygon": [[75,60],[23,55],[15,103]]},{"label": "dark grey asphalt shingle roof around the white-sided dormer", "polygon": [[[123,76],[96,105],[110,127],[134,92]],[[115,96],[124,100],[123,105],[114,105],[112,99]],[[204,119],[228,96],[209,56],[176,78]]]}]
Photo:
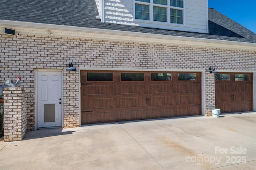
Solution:
[{"label": "dark grey asphalt shingle roof around the white-sided dormer", "polygon": [[256,34],[208,8],[209,34],[102,23],[95,0],[1,0],[0,20],[256,43]]}]

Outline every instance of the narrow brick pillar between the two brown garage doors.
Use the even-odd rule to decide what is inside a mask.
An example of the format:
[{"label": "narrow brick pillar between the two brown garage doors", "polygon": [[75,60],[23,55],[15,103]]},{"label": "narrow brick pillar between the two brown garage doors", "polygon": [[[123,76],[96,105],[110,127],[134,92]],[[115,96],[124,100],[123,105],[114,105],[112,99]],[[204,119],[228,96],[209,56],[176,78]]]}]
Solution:
[{"label": "narrow brick pillar between the two brown garage doors", "polygon": [[215,108],[215,80],[214,74],[205,73],[205,95],[206,95],[206,116],[212,116],[212,109]]}]

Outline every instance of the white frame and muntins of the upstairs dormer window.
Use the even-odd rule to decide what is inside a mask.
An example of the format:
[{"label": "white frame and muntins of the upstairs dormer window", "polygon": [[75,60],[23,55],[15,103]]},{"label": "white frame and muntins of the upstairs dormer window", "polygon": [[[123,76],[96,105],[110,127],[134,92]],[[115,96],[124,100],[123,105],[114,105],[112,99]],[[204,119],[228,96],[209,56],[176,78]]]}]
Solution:
[{"label": "white frame and muntins of the upstairs dormer window", "polygon": [[[150,0],[150,3],[148,2],[141,2],[141,1],[136,1],[136,0],[133,0],[133,17],[134,17],[134,21],[135,22],[144,22],[144,23],[152,23],[152,24],[160,24],[160,25],[172,25],[172,26],[185,26],[186,23],[186,18],[185,18],[185,9],[186,9],[186,6],[185,6],[185,2],[186,0],[183,0],[183,8],[180,8],[180,7],[175,7],[175,6],[170,6],[170,0],[167,0],[167,6],[166,5],[161,5],[161,4],[154,4],[153,3],[154,0]],[[150,10],[150,13],[149,13],[149,20],[140,20],[140,19],[135,19],[135,3],[136,4],[144,4],[144,5],[149,5],[149,10]],[[153,13],[153,6],[160,6],[160,7],[164,7],[166,8],[166,18],[167,18],[167,22],[161,22],[161,21],[154,21],[154,13]],[[176,24],[176,23],[171,23],[171,16],[170,16],[170,9],[177,9],[177,10],[182,10],[182,19],[183,19],[183,24]]]}]

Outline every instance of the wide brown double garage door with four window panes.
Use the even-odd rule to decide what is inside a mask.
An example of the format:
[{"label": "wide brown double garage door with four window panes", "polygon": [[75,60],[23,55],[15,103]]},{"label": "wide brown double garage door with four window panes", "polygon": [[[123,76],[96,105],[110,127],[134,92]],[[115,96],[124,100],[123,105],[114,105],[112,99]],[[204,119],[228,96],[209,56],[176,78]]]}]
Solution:
[{"label": "wide brown double garage door with four window panes", "polygon": [[81,124],[201,115],[201,73],[81,71]]}]

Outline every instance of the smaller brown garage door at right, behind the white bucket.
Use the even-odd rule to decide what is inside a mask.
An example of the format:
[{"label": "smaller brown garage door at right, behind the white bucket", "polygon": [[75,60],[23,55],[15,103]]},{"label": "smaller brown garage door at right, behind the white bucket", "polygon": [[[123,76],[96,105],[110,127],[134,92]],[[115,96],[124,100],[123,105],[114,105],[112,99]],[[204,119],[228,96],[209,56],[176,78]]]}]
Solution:
[{"label": "smaller brown garage door at right, behind the white bucket", "polygon": [[252,73],[215,74],[215,102],[221,113],[252,111]]}]

